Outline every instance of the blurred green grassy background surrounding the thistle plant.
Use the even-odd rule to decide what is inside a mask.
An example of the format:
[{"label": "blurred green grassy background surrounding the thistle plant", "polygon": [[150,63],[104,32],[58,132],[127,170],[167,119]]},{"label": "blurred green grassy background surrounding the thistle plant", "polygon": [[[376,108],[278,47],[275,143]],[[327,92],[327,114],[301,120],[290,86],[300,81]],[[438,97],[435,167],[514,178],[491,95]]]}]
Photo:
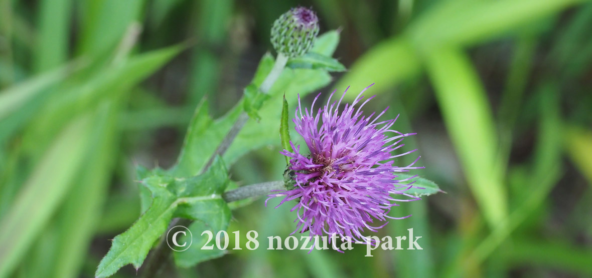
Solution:
[{"label": "blurred green grassy background surrounding the thistle plant", "polygon": [[[236,104],[297,5],[340,30],[349,70],[321,91],[376,82],[365,109],[418,133],[415,173],[447,193],[378,235],[414,228],[423,250],[266,250],[295,215],[260,199],[229,230],[258,231],[258,250],[167,277],[592,277],[592,4],[577,0],[0,0],[0,276],[93,277],[139,216],[134,166],[172,166],[202,98],[215,117]],[[281,179],[279,146],[232,179]]]}]

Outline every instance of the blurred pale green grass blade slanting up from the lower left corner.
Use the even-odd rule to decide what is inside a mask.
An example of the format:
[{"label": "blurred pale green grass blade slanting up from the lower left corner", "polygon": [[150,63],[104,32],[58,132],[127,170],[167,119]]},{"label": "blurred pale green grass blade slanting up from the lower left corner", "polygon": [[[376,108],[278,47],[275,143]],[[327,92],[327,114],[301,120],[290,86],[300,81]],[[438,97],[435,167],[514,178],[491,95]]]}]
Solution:
[{"label": "blurred pale green grass blade slanting up from the lower left corner", "polygon": [[82,117],[67,125],[0,222],[0,277],[10,274],[66,195],[85,157],[90,124]]}]

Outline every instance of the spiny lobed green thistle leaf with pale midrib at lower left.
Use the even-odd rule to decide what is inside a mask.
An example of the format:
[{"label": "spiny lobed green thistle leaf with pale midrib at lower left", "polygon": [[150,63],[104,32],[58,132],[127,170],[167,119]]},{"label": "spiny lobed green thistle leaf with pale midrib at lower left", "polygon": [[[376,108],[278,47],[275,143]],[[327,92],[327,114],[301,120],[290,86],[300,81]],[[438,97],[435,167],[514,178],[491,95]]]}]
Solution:
[{"label": "spiny lobed green thistle leaf with pale midrib at lower left", "polygon": [[[228,174],[220,157],[200,176],[179,179],[156,174],[143,179],[142,185],[152,193],[152,203],[126,232],[113,239],[109,252],[96,270],[96,277],[111,276],[126,264],[133,264],[138,269],[173,216],[201,221],[205,224],[201,228],[228,226],[230,209],[221,196],[228,185]],[[201,234],[195,229],[193,232]],[[194,246],[201,248],[202,245]],[[184,255],[177,260],[182,266],[191,266],[203,258]]]}]

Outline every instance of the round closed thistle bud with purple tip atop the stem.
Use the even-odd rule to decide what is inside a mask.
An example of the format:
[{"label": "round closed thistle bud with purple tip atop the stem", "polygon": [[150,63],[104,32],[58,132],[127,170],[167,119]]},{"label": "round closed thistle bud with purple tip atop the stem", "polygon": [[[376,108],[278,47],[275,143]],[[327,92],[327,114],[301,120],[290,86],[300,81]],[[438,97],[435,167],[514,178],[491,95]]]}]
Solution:
[{"label": "round closed thistle bud with purple tip atop the stem", "polygon": [[311,9],[291,8],[274,22],[271,43],[278,53],[288,57],[306,54],[318,34],[318,18]]}]

